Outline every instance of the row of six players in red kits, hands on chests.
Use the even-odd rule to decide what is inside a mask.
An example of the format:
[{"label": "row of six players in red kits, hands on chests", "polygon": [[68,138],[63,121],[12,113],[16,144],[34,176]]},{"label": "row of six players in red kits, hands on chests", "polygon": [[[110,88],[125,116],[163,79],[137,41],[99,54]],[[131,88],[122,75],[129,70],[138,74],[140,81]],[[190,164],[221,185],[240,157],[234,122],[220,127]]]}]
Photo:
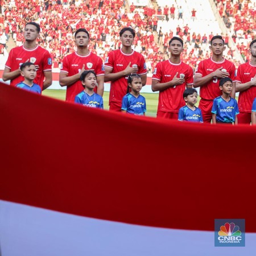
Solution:
[{"label": "row of six players in red kits, hands on chests", "polygon": [[[23,46],[11,49],[3,72],[3,80],[10,80],[10,85],[15,86],[24,80],[20,75],[20,65],[27,61],[34,63],[36,67],[34,83],[42,90],[51,85],[52,60],[49,52],[36,44],[39,32],[39,24],[27,23],[24,28]],[[137,73],[141,77],[142,86],[146,84],[147,69],[144,57],[132,48],[135,37],[133,28],[124,27],[119,35],[121,48],[110,51],[103,64],[101,58],[88,49],[88,31],[80,28],[75,32],[77,51],[64,57],[59,75],[60,85],[67,86],[67,101],[74,102],[76,96],[84,90],[80,77],[86,70],[92,70],[96,74],[97,86],[94,92],[99,96],[103,95],[104,82],[110,81],[109,105],[113,111],[122,109],[122,100],[127,94],[127,79],[131,74]],[[152,90],[159,91],[157,117],[178,119],[179,110],[184,106],[183,93],[186,88],[194,87],[200,88],[199,109],[203,121],[211,122],[213,100],[223,93],[219,86],[220,80],[229,77],[233,85],[230,96],[234,98],[236,92],[239,92],[238,124],[251,123],[251,109],[256,97],[256,40],[250,43],[251,60],[241,64],[237,72],[234,64],[223,57],[225,44],[220,35],[213,36],[209,49],[212,56],[200,61],[193,74],[192,68],[180,60],[183,40],[179,37],[170,40],[170,59],[156,64],[152,75]]]}]

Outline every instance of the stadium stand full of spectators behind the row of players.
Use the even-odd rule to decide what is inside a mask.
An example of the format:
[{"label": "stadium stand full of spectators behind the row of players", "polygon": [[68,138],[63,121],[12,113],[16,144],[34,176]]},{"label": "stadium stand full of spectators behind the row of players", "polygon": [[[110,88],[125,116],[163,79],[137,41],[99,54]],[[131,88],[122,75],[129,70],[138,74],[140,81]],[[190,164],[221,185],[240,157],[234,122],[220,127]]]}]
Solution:
[{"label": "stadium stand full of spectators behind the row of players", "polygon": [[[158,61],[168,58],[168,40],[172,36],[183,38],[183,61],[195,70],[201,59],[210,56],[210,38],[219,34],[226,40],[225,57],[238,67],[248,60],[247,45],[255,37],[255,1],[172,0],[168,6],[164,0],[36,0],[33,5],[28,0],[1,1],[0,35],[6,35],[7,45],[11,37],[19,46],[24,24],[39,22],[43,28],[39,44],[51,53],[53,71],[59,71],[63,57],[75,49],[73,32],[77,28],[88,29],[90,50],[105,60],[109,51],[120,46],[120,28],[131,26],[137,32],[134,48],[145,57],[151,74]],[[159,35],[160,31],[163,35]],[[6,47],[0,54],[7,55]]]}]

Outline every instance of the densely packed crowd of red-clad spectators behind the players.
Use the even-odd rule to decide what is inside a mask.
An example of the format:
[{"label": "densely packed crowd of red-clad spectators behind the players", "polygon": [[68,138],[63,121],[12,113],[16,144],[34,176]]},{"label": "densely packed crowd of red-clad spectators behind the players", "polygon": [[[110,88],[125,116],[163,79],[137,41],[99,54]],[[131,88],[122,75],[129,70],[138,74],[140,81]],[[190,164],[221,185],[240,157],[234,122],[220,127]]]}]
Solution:
[{"label": "densely packed crowd of red-clad spectators behind the players", "polygon": [[[6,1],[7,2],[7,1]],[[253,34],[255,23],[255,10],[246,8],[245,1],[243,12],[250,15],[249,18],[243,18],[245,13],[241,13],[239,7],[233,9],[230,14],[229,4],[233,5],[232,0],[216,0],[217,6],[223,6],[223,13],[233,15],[236,25],[234,26],[236,34],[238,30],[244,32],[245,36]],[[1,0],[1,4],[5,1]],[[118,49],[121,42],[119,41],[119,31],[123,26],[131,26],[137,32],[135,37],[135,50],[141,52],[146,59],[148,71],[154,70],[156,63],[167,58],[168,41],[172,36],[178,35],[184,40],[183,61],[192,66],[193,69],[200,60],[210,56],[208,50],[209,41],[213,34],[200,35],[190,31],[188,24],[184,27],[177,27],[176,31],[170,30],[165,35],[159,35],[158,18],[156,15],[167,15],[167,18],[174,18],[175,6],[172,5],[169,10],[167,7],[151,8],[148,6],[135,7],[133,4],[129,7],[124,5],[123,0],[95,0],[95,1],[69,1],[69,0],[35,0],[33,5],[29,0],[8,1],[9,5],[2,5],[3,15],[0,19],[0,34],[5,32],[7,38],[13,36],[17,46],[22,44],[24,24],[29,21],[35,21],[42,27],[40,33],[40,46],[48,49],[52,55],[53,68],[58,68],[63,57],[69,52],[75,50],[73,32],[77,28],[85,27],[91,36],[90,51],[96,53],[105,60],[108,52],[112,49]],[[236,5],[237,6],[237,5]],[[127,8],[126,8],[127,7]],[[177,6],[176,6],[177,7]],[[173,15],[172,15],[173,14]],[[5,16],[5,20],[3,19]],[[240,19],[240,22],[238,20]],[[244,22],[241,22],[241,19]],[[239,23],[239,24],[237,24]],[[224,38],[225,36],[222,35]],[[227,36],[228,38],[228,36]],[[228,40],[228,39],[225,39]],[[159,43],[158,43],[159,42]],[[193,47],[189,47],[189,46]],[[206,47],[207,46],[207,47]],[[247,45],[238,43],[241,53],[247,58]],[[232,50],[229,49],[227,59],[232,59]],[[233,61],[236,66],[239,61]]]}]

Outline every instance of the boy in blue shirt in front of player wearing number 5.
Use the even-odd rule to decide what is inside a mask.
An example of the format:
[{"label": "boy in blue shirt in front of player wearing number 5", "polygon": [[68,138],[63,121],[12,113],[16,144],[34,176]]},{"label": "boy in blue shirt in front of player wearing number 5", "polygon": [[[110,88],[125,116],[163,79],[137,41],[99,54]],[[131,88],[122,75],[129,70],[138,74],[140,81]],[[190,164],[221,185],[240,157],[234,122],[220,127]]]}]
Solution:
[{"label": "boy in blue shirt in front of player wearing number 5", "polygon": [[214,98],[212,106],[212,123],[230,123],[237,125],[237,114],[239,114],[236,99],[230,97],[233,81],[224,77],[219,84],[222,95]]}]

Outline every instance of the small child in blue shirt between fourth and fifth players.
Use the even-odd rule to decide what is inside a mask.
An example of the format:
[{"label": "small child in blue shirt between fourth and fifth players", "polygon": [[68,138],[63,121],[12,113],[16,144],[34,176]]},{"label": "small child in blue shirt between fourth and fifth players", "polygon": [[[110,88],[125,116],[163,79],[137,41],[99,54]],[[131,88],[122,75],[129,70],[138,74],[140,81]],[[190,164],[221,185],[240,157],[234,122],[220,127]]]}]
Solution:
[{"label": "small child in blue shirt between fourth and fifth players", "polygon": [[195,106],[197,102],[197,90],[195,88],[185,89],[183,98],[186,105],[179,109],[178,121],[203,123],[201,109]]}]

